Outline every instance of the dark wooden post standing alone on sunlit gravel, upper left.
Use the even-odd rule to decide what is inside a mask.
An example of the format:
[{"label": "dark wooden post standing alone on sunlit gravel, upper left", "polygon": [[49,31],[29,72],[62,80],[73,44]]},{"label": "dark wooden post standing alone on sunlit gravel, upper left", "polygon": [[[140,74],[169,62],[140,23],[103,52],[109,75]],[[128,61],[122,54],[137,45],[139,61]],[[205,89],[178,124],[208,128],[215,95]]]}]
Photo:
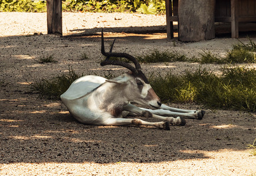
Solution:
[{"label": "dark wooden post standing alone on sunlit gravel, upper left", "polygon": [[47,32],[63,34],[61,0],[47,0]]}]

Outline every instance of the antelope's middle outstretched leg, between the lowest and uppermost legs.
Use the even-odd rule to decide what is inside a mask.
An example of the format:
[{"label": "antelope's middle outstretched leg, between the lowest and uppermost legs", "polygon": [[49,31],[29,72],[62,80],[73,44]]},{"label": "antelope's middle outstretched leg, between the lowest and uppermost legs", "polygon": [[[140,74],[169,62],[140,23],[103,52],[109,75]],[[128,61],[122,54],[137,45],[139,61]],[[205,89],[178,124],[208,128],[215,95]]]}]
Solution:
[{"label": "antelope's middle outstretched leg, between the lowest and uppermost legs", "polygon": [[153,117],[155,119],[169,121],[170,124],[173,124],[175,126],[184,126],[186,124],[186,120],[183,119],[182,117],[175,118],[175,117],[158,116],[156,114],[151,113],[147,109],[140,109],[139,107],[134,106],[133,104],[127,104],[126,106],[123,107],[123,110],[129,111],[130,113],[128,115],[131,115],[131,116]]}]

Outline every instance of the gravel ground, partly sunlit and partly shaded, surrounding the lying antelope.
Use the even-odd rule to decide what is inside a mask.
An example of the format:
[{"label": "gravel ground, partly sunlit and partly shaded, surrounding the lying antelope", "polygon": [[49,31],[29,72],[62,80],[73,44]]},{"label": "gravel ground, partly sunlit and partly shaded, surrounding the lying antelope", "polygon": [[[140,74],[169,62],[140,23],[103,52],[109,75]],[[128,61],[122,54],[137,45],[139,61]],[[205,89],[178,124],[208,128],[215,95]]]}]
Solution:
[{"label": "gravel ground, partly sunlit and partly shaded, surrounding the lying antelope", "polygon": [[[115,51],[132,55],[153,49],[190,56],[202,50],[225,55],[236,39],[168,41],[165,16],[156,15],[63,13],[64,37],[46,35],[46,13],[0,13],[0,19],[0,80],[8,83],[0,89],[0,175],[256,174],[256,157],[247,149],[256,138],[253,113],[205,109],[203,120],[188,119],[186,126],[173,126],[170,131],[147,126],[86,126],[74,120],[60,101],[37,99],[29,86],[67,72],[68,66],[90,75],[125,72],[120,67],[100,67],[102,27],[107,42],[117,38]],[[83,53],[88,60],[81,60]],[[36,61],[50,55],[58,63]],[[182,74],[199,65],[176,62],[142,67],[146,75],[170,70]],[[223,65],[202,67],[220,72]],[[204,109],[196,104],[169,105]]]}]

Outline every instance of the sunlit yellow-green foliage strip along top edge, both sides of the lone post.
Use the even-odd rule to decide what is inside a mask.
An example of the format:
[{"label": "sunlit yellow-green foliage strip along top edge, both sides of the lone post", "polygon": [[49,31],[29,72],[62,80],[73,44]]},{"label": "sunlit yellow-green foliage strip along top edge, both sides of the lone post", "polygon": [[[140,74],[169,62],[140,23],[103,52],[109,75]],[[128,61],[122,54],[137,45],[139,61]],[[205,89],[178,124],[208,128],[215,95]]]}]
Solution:
[{"label": "sunlit yellow-green foliage strip along top edge, both sides of the lone post", "polygon": [[[165,13],[163,0],[65,0],[63,11],[69,12],[140,12]],[[0,0],[0,12],[46,12],[46,1]]]}]

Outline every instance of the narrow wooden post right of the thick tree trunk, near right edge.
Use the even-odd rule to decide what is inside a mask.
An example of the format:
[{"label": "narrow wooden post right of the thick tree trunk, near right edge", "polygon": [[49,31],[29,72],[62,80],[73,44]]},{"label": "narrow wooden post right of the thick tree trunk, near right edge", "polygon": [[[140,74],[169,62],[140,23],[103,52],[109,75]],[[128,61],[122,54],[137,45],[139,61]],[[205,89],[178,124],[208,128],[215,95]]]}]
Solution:
[{"label": "narrow wooden post right of the thick tree trunk, near right edge", "polygon": [[238,1],[231,0],[231,37],[238,38]]}]

